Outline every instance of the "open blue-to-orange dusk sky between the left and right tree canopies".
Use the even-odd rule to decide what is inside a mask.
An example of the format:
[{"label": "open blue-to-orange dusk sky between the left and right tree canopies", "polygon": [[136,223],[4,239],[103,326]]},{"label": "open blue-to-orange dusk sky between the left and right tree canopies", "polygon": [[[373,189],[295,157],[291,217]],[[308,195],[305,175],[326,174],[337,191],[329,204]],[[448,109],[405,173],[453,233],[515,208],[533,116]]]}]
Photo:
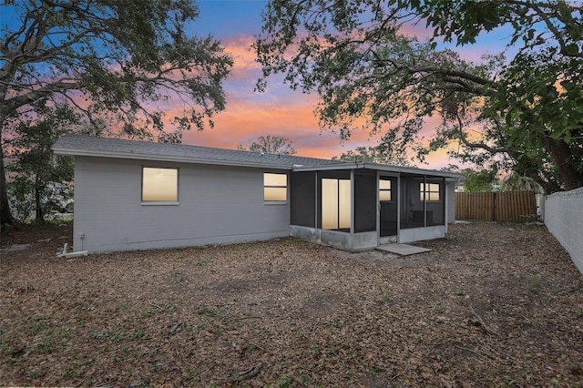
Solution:
[{"label": "open blue-to-orange dusk sky between the left and right tree canopies", "polygon": [[[321,131],[313,113],[318,96],[292,91],[281,82],[281,77],[271,77],[266,92],[253,91],[261,67],[255,62],[251,44],[253,36],[261,32],[264,1],[199,0],[197,3],[200,16],[194,26],[195,33],[220,39],[235,63],[231,77],[224,83],[227,107],[214,118],[215,128],[185,133],[184,144],[236,148],[261,135],[281,135],[292,139],[298,155],[314,158],[332,158],[359,146],[376,145],[376,138],[370,138],[366,132],[354,132],[350,141],[341,143],[337,134]],[[416,34],[428,36],[423,29]],[[485,36],[477,48],[462,47],[459,52],[466,59],[478,60],[486,52],[502,51],[504,37],[504,32]],[[439,124],[437,117],[432,120],[433,123],[427,122],[427,129]],[[442,168],[450,161],[443,151],[431,155],[427,162],[420,167]]]}]

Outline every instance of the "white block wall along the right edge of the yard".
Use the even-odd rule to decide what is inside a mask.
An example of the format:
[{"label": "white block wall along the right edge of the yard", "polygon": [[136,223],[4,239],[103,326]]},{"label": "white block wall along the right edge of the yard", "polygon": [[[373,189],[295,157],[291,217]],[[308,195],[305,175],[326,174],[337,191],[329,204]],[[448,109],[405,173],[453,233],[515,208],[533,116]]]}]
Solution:
[{"label": "white block wall along the right edge of the yard", "polygon": [[547,196],[545,224],[583,274],[583,188]]}]

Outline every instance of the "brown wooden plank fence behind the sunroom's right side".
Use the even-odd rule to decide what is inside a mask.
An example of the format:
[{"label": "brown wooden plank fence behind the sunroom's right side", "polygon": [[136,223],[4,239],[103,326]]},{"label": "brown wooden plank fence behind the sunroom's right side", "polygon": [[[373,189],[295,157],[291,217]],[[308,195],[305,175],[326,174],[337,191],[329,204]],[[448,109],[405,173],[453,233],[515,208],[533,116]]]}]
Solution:
[{"label": "brown wooden plank fence behind the sunroom's right side", "polygon": [[536,213],[533,191],[455,193],[455,220],[524,222]]}]

